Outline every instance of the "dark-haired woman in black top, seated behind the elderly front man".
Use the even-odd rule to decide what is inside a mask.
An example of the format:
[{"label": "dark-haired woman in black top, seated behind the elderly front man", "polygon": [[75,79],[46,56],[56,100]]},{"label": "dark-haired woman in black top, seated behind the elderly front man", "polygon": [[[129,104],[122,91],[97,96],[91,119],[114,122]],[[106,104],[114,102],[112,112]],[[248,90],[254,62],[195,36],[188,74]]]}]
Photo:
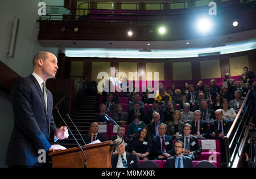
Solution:
[{"label": "dark-haired woman in black top, seated behind the elderly front man", "polygon": [[151,139],[147,127],[143,127],[138,137],[133,137],[130,142],[130,151],[136,154],[139,160],[148,160],[151,152]]}]

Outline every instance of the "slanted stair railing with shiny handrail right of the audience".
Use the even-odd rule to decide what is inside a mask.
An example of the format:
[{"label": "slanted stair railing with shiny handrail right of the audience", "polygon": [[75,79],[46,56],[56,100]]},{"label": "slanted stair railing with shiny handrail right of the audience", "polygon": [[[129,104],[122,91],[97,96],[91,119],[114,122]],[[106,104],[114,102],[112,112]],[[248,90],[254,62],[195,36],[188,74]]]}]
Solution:
[{"label": "slanted stair railing with shiny handrail right of the audience", "polygon": [[243,104],[237,113],[236,119],[232,123],[228,134],[224,137],[227,167],[232,167],[233,165],[234,159],[238,154],[238,148],[243,139],[243,134],[246,131],[246,125],[250,118],[250,92],[251,90],[247,93],[245,100],[243,100]]}]

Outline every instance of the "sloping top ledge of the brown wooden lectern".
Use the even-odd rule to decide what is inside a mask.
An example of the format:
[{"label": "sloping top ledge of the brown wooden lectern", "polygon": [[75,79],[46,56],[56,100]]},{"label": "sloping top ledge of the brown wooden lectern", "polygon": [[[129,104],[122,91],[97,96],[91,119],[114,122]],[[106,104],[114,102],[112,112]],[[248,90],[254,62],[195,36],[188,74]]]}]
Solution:
[{"label": "sloping top ledge of the brown wooden lectern", "polygon": [[[96,143],[96,144],[89,144],[86,146],[81,146],[82,150],[90,150],[93,148],[100,148],[100,147],[106,147],[110,146],[113,144],[112,140],[108,140],[106,142],[101,142],[101,143]],[[63,154],[68,154],[72,152],[79,152],[81,151],[80,147],[72,147],[68,148],[67,150],[61,150],[61,151],[55,151],[55,152],[50,152],[49,156],[56,156],[56,155],[63,155]]]}]

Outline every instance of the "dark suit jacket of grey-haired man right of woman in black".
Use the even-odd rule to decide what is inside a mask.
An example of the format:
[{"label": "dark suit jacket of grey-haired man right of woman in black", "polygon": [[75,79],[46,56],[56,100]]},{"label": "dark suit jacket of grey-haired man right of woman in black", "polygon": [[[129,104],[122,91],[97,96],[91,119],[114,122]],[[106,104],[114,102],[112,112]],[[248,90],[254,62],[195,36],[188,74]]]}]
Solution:
[{"label": "dark suit jacket of grey-haired man right of woman in black", "polygon": [[[166,144],[166,153],[170,154],[171,156],[174,156],[174,140],[172,140],[171,136],[164,135],[164,142],[169,142],[169,144]],[[163,152],[161,151],[161,142],[159,136],[155,136],[152,139],[152,155],[156,158],[159,155],[163,155]]]}]

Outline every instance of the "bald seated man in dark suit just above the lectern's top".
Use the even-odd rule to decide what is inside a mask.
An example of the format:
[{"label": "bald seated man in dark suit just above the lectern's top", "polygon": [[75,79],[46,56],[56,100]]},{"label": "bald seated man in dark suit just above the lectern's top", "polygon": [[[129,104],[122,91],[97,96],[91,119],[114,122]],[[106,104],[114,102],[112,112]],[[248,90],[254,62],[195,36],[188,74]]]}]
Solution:
[{"label": "bald seated man in dark suit just above the lectern's top", "polygon": [[101,142],[105,142],[106,141],[106,135],[103,135],[103,134],[99,133],[98,132],[98,128],[99,127],[98,127],[98,123],[97,122],[93,122],[90,125],[88,134],[83,137],[86,144],[91,143],[91,142],[93,142],[95,140],[98,140],[98,139]]}]

